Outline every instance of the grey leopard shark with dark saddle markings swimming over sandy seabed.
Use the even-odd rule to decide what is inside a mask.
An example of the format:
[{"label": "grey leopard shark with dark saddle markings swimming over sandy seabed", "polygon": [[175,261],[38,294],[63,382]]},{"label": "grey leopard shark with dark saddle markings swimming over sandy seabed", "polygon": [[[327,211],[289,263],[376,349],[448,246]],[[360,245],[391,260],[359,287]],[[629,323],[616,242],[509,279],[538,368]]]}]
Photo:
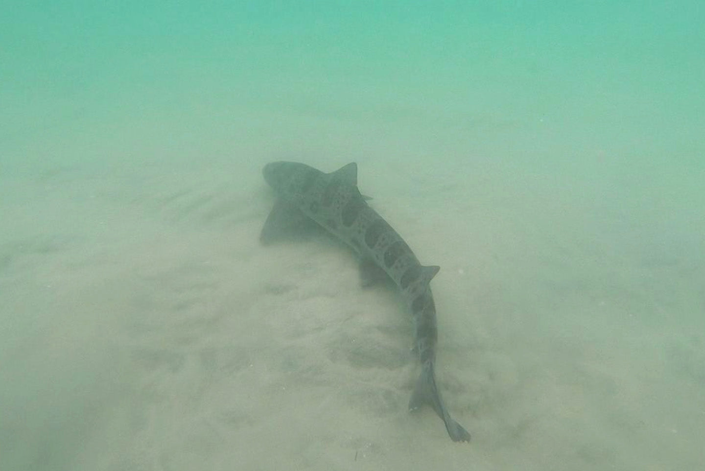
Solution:
[{"label": "grey leopard shark with dark saddle markings swimming over sandy seabed", "polygon": [[414,350],[422,365],[409,409],[430,405],[453,441],[470,441],[467,430],[450,417],[436,385],[438,329],[429,282],[440,267],[420,264],[403,238],[367,204],[369,198],[357,188],[355,162],[324,173],[306,164],[277,161],[266,164],[262,173],[276,194],[276,202],[262,228],[261,242],[272,243],[282,233],[297,231],[313,221],[360,258],[364,285],[391,279],[413,315]]}]

